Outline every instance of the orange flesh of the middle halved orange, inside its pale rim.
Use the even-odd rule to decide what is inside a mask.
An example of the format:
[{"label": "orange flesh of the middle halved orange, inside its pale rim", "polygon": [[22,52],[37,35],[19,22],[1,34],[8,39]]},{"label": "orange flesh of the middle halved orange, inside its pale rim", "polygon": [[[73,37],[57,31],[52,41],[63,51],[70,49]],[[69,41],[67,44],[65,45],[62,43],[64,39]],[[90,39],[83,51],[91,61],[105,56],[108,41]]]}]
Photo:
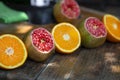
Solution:
[{"label": "orange flesh of the middle halved orange, inside its pale rim", "polygon": [[56,43],[65,50],[71,50],[75,48],[79,43],[78,37],[78,33],[68,25],[57,27],[54,32]]}]

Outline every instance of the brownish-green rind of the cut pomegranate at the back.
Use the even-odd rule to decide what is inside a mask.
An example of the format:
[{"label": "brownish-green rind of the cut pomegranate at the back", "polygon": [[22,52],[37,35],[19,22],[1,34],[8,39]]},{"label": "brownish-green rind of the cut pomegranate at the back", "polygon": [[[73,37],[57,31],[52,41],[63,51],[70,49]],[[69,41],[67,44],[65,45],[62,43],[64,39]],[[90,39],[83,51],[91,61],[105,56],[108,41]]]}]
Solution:
[{"label": "brownish-green rind of the cut pomegranate at the back", "polygon": [[[61,0],[62,1],[62,0]],[[53,14],[54,14],[54,17],[56,19],[57,22],[69,22],[69,23],[72,23],[74,20],[76,19],[68,19],[66,16],[64,16],[62,13],[61,13],[61,6],[60,6],[60,3],[61,1],[58,1],[55,5],[54,5],[54,8],[53,8]]]}]

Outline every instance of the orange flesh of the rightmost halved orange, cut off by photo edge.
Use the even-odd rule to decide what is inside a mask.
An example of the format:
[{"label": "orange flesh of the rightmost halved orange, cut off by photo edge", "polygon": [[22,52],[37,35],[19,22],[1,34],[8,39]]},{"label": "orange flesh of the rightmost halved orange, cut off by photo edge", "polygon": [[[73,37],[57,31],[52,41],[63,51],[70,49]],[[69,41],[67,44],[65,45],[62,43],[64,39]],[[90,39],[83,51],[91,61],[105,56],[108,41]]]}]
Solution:
[{"label": "orange flesh of the rightmost halved orange, cut off by photo edge", "polygon": [[106,25],[109,26],[109,30],[115,36],[120,37],[120,22],[111,17],[106,18]]}]

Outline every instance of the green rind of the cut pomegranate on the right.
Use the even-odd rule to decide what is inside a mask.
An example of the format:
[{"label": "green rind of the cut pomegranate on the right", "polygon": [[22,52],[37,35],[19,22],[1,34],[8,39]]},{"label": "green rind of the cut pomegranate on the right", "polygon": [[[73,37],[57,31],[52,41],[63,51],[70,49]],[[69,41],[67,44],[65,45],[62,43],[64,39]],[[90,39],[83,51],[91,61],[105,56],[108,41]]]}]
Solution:
[{"label": "green rind of the cut pomegranate on the right", "polygon": [[95,48],[101,46],[106,41],[106,36],[95,38],[89,32],[87,32],[84,24],[85,20],[83,20],[78,27],[78,30],[81,34],[81,45],[86,48]]}]

